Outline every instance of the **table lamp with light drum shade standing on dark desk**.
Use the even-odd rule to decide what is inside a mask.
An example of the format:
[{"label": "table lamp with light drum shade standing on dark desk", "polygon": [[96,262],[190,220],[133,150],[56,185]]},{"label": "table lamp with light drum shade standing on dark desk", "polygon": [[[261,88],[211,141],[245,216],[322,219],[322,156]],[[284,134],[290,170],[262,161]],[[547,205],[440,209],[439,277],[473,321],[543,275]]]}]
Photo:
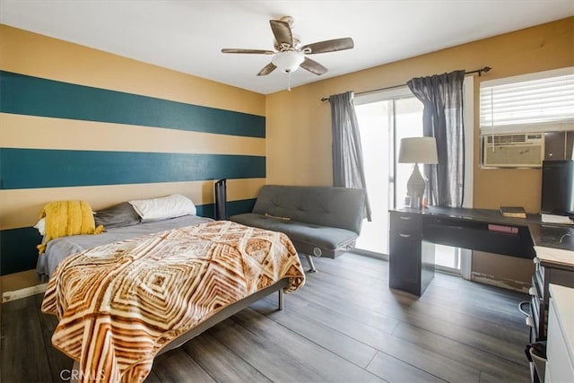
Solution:
[{"label": "table lamp with light drum shade standing on dark desk", "polygon": [[406,183],[406,195],[409,196],[409,205],[420,209],[426,179],[422,177],[419,163],[437,163],[437,142],[434,137],[407,137],[401,139],[398,152],[400,163],[414,163],[413,174]]}]

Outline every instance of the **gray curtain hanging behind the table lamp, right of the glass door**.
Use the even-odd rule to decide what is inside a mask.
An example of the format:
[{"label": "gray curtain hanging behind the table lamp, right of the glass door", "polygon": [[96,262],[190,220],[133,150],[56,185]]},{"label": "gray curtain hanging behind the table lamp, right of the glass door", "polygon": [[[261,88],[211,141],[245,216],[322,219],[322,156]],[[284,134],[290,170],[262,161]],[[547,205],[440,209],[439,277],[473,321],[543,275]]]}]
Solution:
[{"label": "gray curtain hanging behind the table lamp, right of the glass door", "polygon": [[439,163],[424,165],[429,205],[462,207],[465,190],[465,71],[413,78],[407,85],[422,101],[422,135],[435,137]]}]

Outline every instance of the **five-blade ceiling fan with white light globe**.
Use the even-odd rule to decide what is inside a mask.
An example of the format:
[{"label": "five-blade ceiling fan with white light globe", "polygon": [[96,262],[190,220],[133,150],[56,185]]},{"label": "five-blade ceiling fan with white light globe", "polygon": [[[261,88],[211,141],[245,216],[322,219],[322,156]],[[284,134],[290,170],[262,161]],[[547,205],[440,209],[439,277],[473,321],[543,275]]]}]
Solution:
[{"label": "five-blade ceiling fan with white light globe", "polygon": [[326,73],[326,67],[306,57],[306,55],[335,52],[337,50],[350,49],[354,46],[351,38],[330,39],[301,45],[300,39],[292,33],[294,19],[291,16],[284,16],[280,20],[270,20],[269,23],[275,38],[275,50],[223,48],[222,53],[273,55],[271,63],[265,65],[257,74],[258,76],[270,74],[276,68],[279,68],[286,74],[291,74],[299,67],[312,74],[321,75]]}]

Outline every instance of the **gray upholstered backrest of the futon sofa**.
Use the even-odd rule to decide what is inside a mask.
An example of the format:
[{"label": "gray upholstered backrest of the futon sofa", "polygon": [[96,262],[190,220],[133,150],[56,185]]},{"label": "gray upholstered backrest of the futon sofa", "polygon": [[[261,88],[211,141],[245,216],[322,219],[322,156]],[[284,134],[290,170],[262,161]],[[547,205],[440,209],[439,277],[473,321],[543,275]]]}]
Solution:
[{"label": "gray upholstered backrest of the futon sofa", "polygon": [[360,233],[364,204],[362,189],[265,185],[253,213]]}]

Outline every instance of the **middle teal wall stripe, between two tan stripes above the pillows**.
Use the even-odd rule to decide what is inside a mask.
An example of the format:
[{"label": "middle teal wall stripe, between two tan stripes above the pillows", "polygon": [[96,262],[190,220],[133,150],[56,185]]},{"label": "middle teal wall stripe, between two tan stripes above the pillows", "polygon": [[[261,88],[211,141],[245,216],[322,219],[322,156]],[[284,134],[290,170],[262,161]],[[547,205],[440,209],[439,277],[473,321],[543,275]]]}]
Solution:
[{"label": "middle teal wall stripe, between two tan stripes above the pillows", "polygon": [[0,148],[0,189],[264,178],[265,157]]}]

